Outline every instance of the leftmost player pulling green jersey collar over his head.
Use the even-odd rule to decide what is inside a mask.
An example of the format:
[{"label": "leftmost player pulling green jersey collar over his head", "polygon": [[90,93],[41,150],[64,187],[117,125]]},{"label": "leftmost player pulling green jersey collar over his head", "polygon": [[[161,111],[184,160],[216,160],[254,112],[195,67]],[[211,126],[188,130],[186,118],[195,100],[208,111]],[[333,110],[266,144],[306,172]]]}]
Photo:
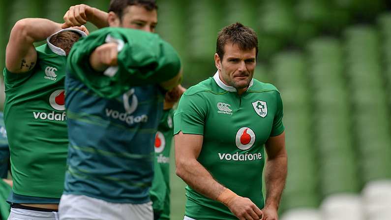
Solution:
[{"label": "leftmost player pulling green jersey collar over his head", "polygon": [[4,122],[13,177],[10,220],[58,219],[68,146],[65,62],[84,31],[27,18],[10,33],[4,68]]}]

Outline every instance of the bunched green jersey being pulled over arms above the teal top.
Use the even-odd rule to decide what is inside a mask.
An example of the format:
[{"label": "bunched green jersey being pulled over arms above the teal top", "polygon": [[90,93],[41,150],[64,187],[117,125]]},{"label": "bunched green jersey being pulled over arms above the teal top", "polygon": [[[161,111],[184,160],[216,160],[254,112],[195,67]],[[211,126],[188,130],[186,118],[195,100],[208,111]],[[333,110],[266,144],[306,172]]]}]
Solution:
[{"label": "bunched green jersey being pulled over arms above the teal top", "polygon": [[[96,72],[90,66],[90,54],[96,47],[108,42],[118,44],[118,66]],[[67,72],[96,94],[113,98],[133,86],[172,79],[179,73],[180,65],[178,53],[157,34],[104,28],[75,43],[67,59]]]}]

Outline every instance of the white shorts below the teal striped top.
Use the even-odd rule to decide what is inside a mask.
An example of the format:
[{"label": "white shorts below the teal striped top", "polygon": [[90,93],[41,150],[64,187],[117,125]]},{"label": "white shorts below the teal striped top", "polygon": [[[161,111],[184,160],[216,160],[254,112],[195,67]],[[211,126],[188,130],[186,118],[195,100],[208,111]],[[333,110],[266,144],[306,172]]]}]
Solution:
[{"label": "white shorts below the teal striped top", "polygon": [[152,202],[111,203],[85,195],[64,194],[60,220],[153,220]]}]

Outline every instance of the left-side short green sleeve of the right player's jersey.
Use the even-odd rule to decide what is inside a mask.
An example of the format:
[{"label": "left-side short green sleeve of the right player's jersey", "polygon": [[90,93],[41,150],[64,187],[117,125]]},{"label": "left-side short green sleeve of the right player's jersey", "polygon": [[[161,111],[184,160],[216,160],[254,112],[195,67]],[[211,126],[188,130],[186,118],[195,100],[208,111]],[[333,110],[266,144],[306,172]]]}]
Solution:
[{"label": "left-side short green sleeve of the right player's jersey", "polygon": [[200,93],[183,94],[174,114],[174,135],[180,131],[184,134],[203,135],[206,114],[206,101]]}]

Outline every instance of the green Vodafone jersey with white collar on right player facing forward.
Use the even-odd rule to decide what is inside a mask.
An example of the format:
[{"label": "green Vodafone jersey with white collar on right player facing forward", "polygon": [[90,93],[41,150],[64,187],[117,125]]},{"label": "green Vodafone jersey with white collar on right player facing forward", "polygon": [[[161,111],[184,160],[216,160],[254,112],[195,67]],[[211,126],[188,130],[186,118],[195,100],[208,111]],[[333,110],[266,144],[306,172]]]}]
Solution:
[{"label": "green Vodafone jersey with white collar on right player facing forward", "polygon": [[[262,171],[264,144],[284,130],[282,101],[277,89],[253,79],[238,95],[216,73],[189,88],[174,115],[174,134],[201,134],[198,161],[213,178],[240,196],[264,207]],[[197,220],[237,219],[222,203],[186,187],[185,215]]]}]

